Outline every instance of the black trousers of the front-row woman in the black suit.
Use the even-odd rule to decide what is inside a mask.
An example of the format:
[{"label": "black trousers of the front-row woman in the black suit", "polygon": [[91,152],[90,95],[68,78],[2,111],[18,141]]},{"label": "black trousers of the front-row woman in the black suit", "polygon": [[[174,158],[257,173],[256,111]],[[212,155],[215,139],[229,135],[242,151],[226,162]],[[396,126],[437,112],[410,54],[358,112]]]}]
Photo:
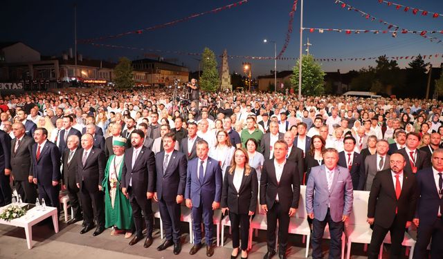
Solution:
[{"label": "black trousers of the front-row woman in the black suit", "polygon": [[239,247],[241,239],[242,250],[245,251],[248,249],[249,215],[229,212],[229,220],[232,229],[233,248]]}]

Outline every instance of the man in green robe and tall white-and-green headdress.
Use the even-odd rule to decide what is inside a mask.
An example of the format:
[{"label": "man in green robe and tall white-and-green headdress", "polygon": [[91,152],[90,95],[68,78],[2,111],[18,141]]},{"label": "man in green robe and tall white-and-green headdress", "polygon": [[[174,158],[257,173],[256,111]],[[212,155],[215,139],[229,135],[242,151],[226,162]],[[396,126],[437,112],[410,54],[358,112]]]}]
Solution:
[{"label": "man in green robe and tall white-and-green headdress", "polygon": [[125,233],[125,238],[130,238],[134,229],[131,204],[120,189],[125,145],[124,137],[114,137],[112,142],[114,155],[109,157],[106,164],[102,186],[105,192],[105,227],[114,227],[111,236]]}]

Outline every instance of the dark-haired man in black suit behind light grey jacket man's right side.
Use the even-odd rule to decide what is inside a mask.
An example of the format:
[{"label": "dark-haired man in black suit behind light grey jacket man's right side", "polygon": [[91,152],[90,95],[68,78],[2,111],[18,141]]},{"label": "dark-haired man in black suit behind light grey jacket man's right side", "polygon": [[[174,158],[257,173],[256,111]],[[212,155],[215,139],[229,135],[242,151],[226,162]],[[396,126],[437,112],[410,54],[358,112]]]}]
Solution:
[{"label": "dark-haired man in black suit behind light grey jacket man's right side", "polygon": [[347,136],[343,140],[344,151],[338,153],[338,165],[349,170],[352,178],[352,187],[355,191],[363,191],[365,186],[365,165],[363,157],[354,151],[356,140]]}]

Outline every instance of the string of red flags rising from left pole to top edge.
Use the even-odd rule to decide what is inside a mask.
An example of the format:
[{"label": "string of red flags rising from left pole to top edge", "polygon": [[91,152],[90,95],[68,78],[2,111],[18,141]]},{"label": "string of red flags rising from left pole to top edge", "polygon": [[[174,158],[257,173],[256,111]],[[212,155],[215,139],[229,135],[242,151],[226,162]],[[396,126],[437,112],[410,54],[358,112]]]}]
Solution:
[{"label": "string of red flags rising from left pole to top edge", "polygon": [[249,0],[237,1],[235,3],[230,3],[230,4],[226,5],[226,6],[221,6],[219,8],[215,8],[213,10],[208,10],[206,12],[195,13],[193,15],[189,15],[188,17],[184,17],[184,18],[177,19],[177,20],[174,20],[174,21],[169,21],[167,23],[161,23],[161,24],[158,24],[156,26],[151,26],[151,27],[148,27],[148,28],[142,28],[142,29],[139,29],[139,30],[131,30],[129,32],[123,32],[123,33],[119,33],[117,35],[108,35],[108,36],[96,37],[96,38],[92,38],[92,39],[79,39],[77,42],[80,43],[80,44],[88,44],[88,43],[91,43],[93,41],[102,41],[102,40],[105,40],[105,39],[115,39],[115,38],[125,37],[127,35],[141,35],[141,34],[143,34],[143,32],[148,32],[148,31],[152,31],[152,30],[157,30],[159,28],[165,28],[165,27],[168,27],[168,26],[173,26],[173,25],[175,25],[177,23],[188,21],[190,19],[195,19],[195,18],[201,17],[203,15],[208,15],[208,14],[211,14],[211,13],[217,13],[217,12],[220,12],[220,11],[223,11],[223,10],[228,10],[228,9],[231,9],[231,8],[235,8],[237,6],[242,6],[242,4],[247,3],[248,1]]}]

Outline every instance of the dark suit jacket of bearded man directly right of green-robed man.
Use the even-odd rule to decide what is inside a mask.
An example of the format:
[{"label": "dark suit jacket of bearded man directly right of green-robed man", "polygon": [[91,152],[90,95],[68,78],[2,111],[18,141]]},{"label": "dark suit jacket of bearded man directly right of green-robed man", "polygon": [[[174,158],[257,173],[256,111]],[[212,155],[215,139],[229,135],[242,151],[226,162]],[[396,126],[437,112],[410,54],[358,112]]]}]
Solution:
[{"label": "dark suit jacket of bearded man directly right of green-robed man", "polygon": [[132,168],[134,147],[125,151],[125,163],[122,169],[122,187],[128,188],[132,178],[132,189],[138,199],[146,199],[146,193],[154,193],[156,184],[156,169],[154,152],[146,146],[141,147]]}]

